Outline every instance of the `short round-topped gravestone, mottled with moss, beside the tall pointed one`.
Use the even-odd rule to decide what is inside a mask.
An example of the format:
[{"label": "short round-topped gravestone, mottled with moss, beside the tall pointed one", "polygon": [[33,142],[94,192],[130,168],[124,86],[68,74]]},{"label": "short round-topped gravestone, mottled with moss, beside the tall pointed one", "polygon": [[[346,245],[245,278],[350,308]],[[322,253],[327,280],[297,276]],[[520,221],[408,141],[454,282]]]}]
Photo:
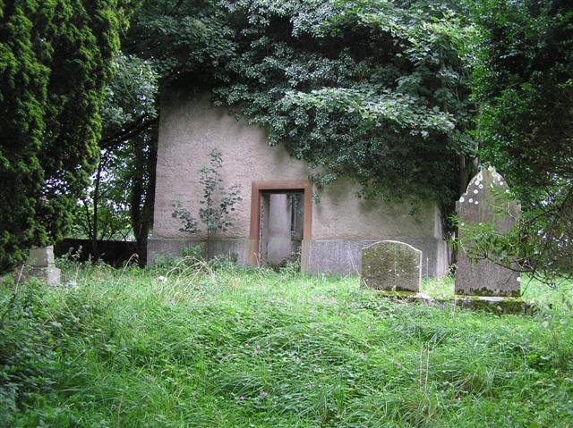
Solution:
[{"label": "short round-topped gravestone, mottled with moss, beside the tall pointed one", "polygon": [[363,248],[362,279],[375,290],[417,293],[422,282],[422,251],[395,240]]}]

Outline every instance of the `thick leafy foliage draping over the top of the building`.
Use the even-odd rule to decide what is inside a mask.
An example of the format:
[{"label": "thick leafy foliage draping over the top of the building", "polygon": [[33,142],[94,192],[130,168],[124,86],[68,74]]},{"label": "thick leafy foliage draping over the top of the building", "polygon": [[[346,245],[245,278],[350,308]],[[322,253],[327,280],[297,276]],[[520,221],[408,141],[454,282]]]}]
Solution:
[{"label": "thick leafy foliage draping over the top of the building", "polygon": [[270,143],[364,196],[458,195],[474,155],[469,72],[448,9],[391,2],[229,2],[235,55],[216,70],[218,104],[270,129]]}]

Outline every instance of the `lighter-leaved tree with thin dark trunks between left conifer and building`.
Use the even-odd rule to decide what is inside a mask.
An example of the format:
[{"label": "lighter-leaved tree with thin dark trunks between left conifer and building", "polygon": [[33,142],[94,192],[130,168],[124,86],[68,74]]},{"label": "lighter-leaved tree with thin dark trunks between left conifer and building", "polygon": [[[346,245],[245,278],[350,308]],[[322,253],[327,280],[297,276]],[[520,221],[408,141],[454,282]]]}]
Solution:
[{"label": "lighter-leaved tree with thin dark trunks between left conifer and building", "polygon": [[114,78],[107,85],[101,113],[100,162],[75,221],[77,229],[91,239],[95,260],[98,239],[126,236],[125,230],[131,229],[139,262],[145,264],[153,222],[157,92],[158,73],[150,62],[116,55]]}]

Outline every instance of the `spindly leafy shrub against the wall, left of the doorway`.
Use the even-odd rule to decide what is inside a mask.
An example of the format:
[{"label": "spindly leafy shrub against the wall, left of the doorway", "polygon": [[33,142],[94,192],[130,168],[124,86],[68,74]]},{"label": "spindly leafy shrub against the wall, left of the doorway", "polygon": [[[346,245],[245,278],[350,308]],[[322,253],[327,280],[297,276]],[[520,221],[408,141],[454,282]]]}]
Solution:
[{"label": "spindly leafy shrub against the wall, left of the doorway", "polygon": [[[221,231],[227,231],[233,225],[233,212],[235,205],[243,200],[241,197],[241,185],[232,184],[225,189],[221,178],[223,155],[214,148],[210,152],[210,166],[202,166],[199,183],[203,187],[203,198],[200,201],[199,218],[205,225],[207,235],[207,257],[210,256],[210,243],[213,236]],[[187,233],[200,233],[199,223],[190,211],[184,208],[179,201],[174,201],[175,211],[173,217],[183,222],[181,231]]]}]

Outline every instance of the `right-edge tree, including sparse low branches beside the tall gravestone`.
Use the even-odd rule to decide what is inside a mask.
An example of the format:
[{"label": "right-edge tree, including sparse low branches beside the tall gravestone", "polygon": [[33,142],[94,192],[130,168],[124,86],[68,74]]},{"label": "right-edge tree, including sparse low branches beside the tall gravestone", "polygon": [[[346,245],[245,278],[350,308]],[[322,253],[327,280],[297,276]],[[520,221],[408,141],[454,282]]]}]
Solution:
[{"label": "right-edge tree, including sparse low branches beside the tall gravestone", "polygon": [[573,9],[569,0],[473,6],[476,136],[520,199],[522,221],[490,257],[545,281],[573,275]]}]

